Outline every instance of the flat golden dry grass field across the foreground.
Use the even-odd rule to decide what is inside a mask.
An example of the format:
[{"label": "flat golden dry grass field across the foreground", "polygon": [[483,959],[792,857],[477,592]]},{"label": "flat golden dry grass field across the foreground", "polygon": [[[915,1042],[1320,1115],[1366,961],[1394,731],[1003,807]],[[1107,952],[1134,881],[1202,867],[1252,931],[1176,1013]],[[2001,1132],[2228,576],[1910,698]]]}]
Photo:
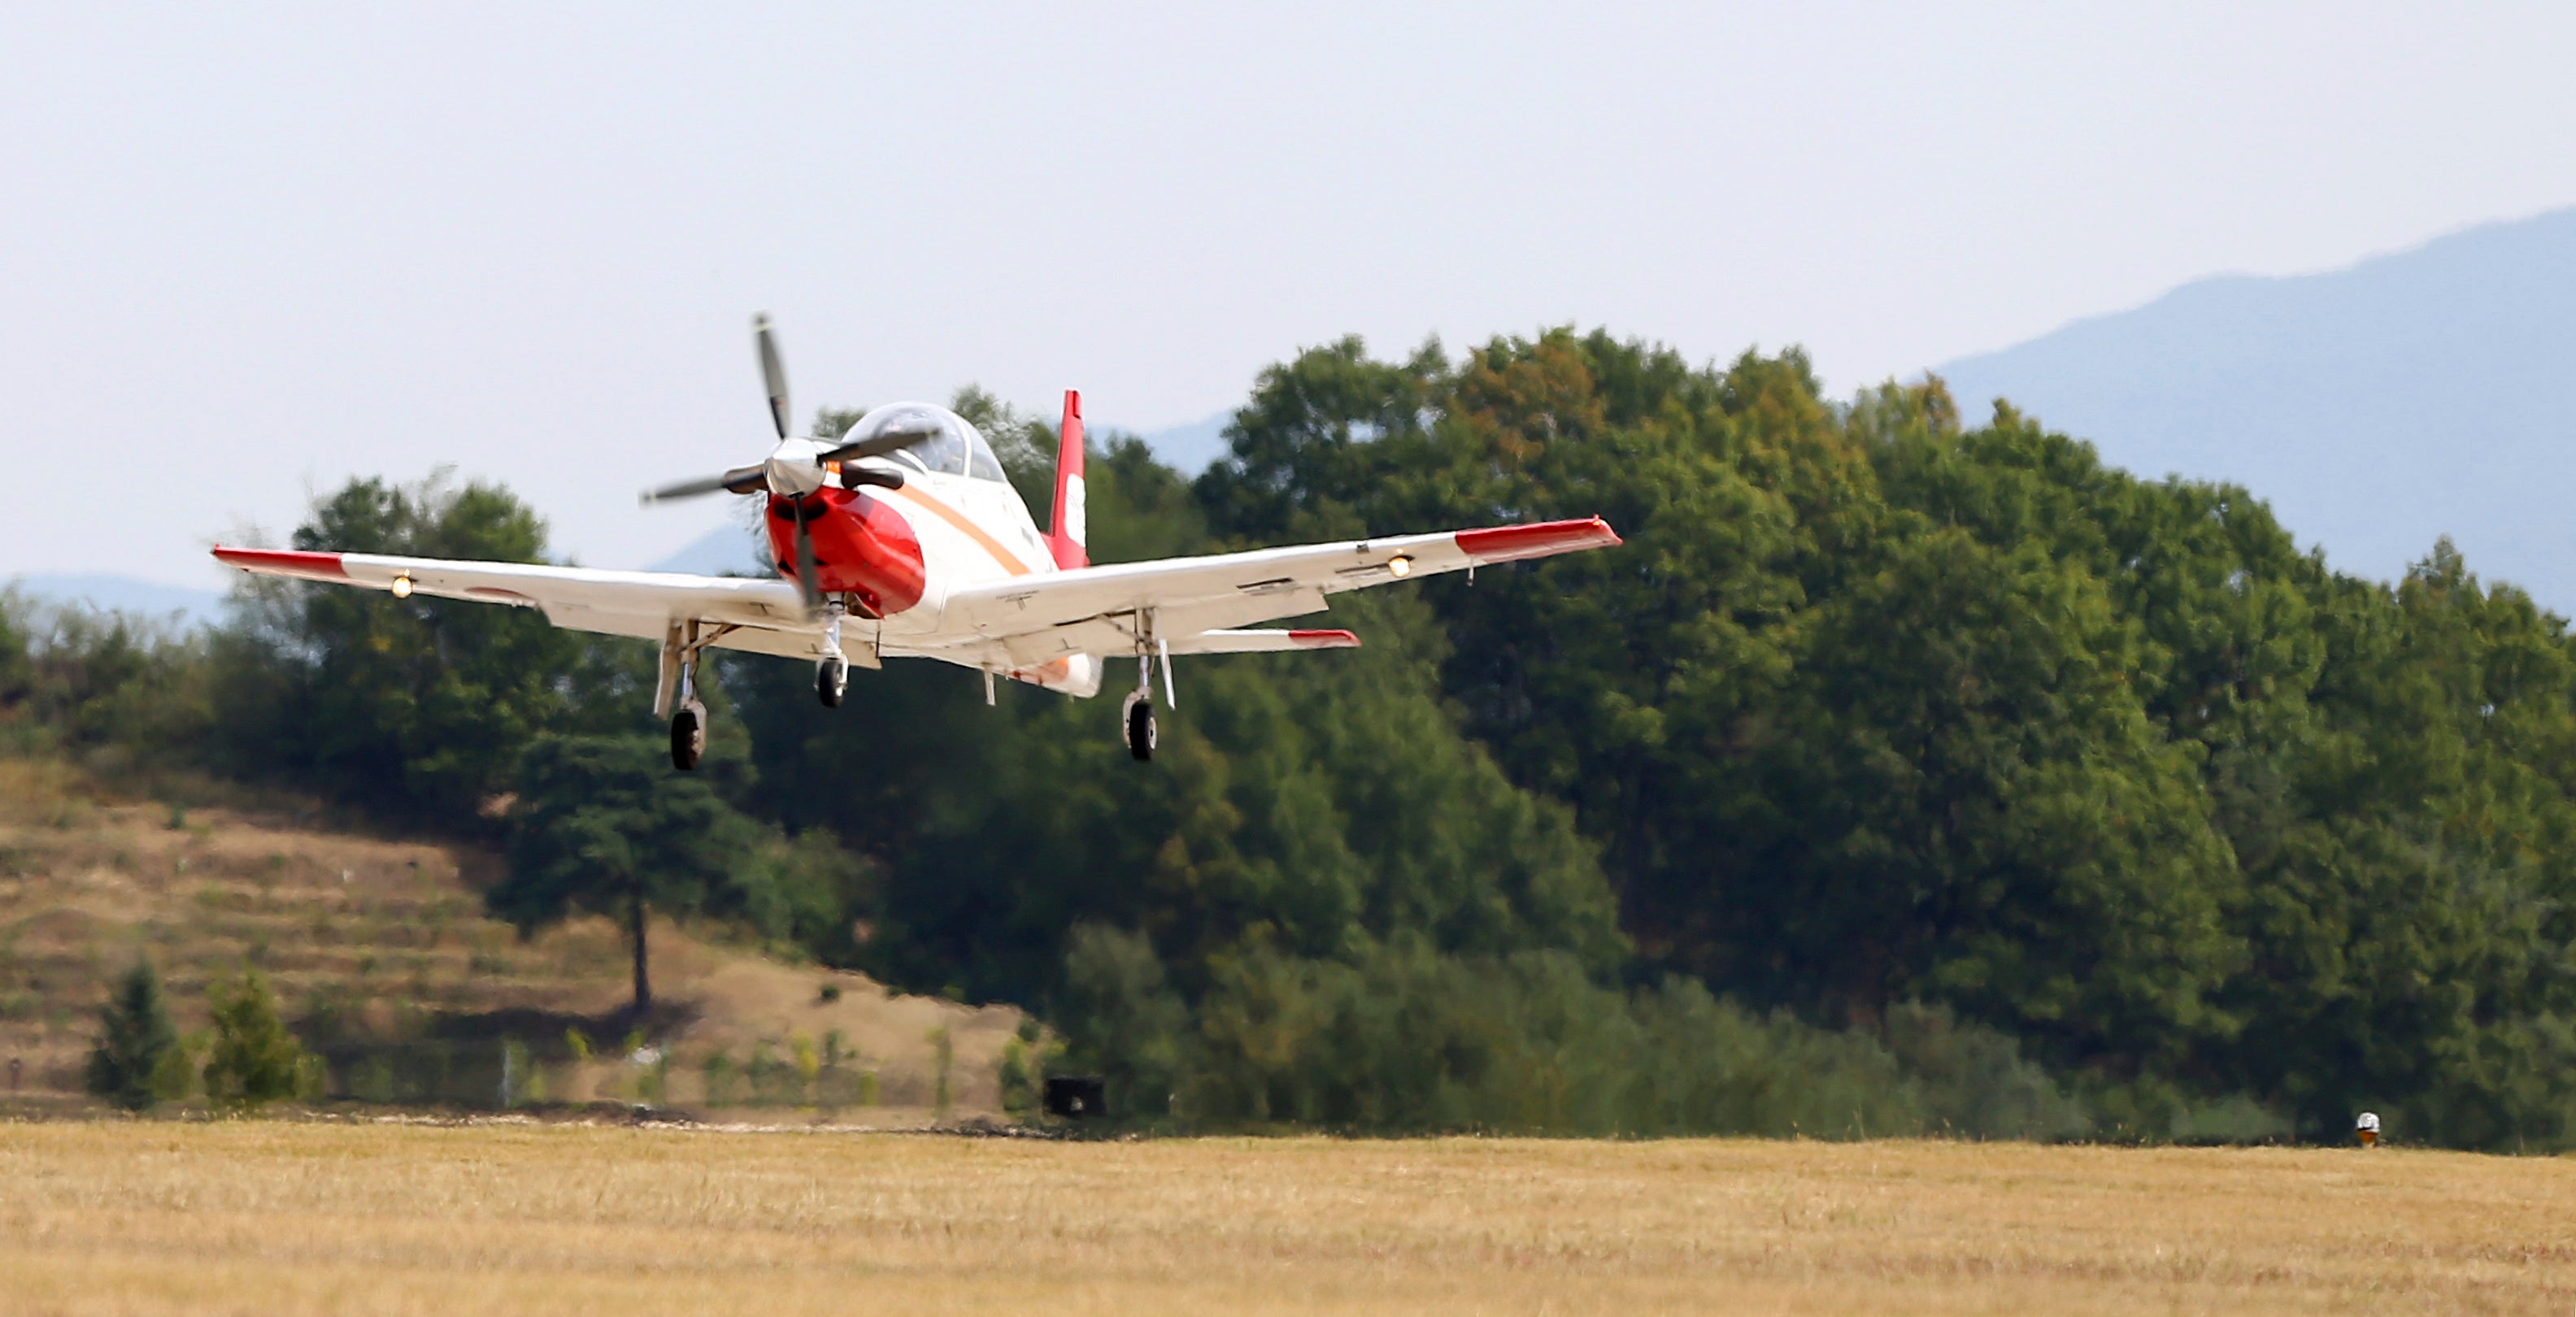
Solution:
[{"label": "flat golden dry grass field across the foreground", "polygon": [[5,1124],[0,1309],[2566,1314],[2576,1162]]}]

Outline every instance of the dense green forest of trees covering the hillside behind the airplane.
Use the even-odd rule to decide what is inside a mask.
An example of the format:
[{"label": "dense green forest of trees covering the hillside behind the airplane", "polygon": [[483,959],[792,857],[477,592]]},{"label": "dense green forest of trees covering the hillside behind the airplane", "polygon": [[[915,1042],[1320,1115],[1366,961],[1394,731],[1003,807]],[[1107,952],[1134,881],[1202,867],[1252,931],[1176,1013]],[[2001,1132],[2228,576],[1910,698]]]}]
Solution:
[{"label": "dense green forest of trees covering the hillside behind the airplane", "polygon": [[[670,789],[729,858],[634,881],[1030,1005],[1149,1121],[2576,1139],[2576,655],[2447,546],[2342,577],[2246,490],[1968,428],[1937,381],[1839,402],[1795,353],[1607,335],[1316,348],[1229,441],[1195,482],[1095,454],[1095,557],[1589,513],[1628,544],[1350,598],[1358,652],[1185,660],[1151,765],[1103,701],[894,665],[822,711],[732,660],[726,758]],[[544,528],[353,485],[296,544]],[[72,619],[0,665],[28,747],[518,853],[564,817],[520,791],[654,735],[641,644],[428,598]]]}]

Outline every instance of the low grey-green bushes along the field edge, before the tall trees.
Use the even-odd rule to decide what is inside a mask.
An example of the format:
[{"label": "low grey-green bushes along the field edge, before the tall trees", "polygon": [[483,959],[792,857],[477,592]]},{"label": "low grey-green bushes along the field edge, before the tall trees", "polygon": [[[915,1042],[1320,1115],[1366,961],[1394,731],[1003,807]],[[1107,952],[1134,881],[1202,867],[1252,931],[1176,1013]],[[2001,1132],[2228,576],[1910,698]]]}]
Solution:
[{"label": "low grey-green bushes along the field edge, before the tall trees", "polygon": [[1937,1008],[1893,1010],[1883,1036],[1834,1031],[1757,1015],[1687,977],[1602,985],[1564,951],[1422,946],[1347,961],[1231,951],[1190,1008],[1146,938],[1084,925],[1072,946],[1072,1059],[1110,1080],[1110,1111],[1128,1121],[1816,1139],[2089,1129],[2012,1039]]}]

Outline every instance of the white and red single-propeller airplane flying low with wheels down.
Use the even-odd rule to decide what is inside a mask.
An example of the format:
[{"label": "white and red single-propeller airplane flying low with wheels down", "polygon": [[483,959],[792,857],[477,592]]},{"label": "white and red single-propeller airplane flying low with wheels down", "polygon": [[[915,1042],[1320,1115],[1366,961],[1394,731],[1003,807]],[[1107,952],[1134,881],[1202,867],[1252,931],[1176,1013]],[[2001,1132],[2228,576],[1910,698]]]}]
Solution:
[{"label": "white and red single-propeller airplane flying low with wheels down", "polygon": [[989,701],[994,675],[1090,698],[1108,657],[1133,657],[1121,727],[1144,760],[1154,758],[1154,670],[1172,704],[1177,655],[1360,644],[1350,631],[1244,626],[1321,611],[1342,590],[1620,541],[1602,518],[1582,518],[1092,567],[1082,546],[1082,394],[1064,394],[1056,508],[1041,534],[984,436],[945,407],[894,402],[835,441],[791,436],[768,317],[755,320],[755,345],[778,446],[755,466],[667,485],[644,503],[765,495],[778,580],[234,546],[214,557],[394,598],[513,603],[556,626],[659,642],[654,716],[670,716],[672,765],[696,768],[706,647],[811,660],[824,706],[840,706],[853,662],[976,668]]}]

